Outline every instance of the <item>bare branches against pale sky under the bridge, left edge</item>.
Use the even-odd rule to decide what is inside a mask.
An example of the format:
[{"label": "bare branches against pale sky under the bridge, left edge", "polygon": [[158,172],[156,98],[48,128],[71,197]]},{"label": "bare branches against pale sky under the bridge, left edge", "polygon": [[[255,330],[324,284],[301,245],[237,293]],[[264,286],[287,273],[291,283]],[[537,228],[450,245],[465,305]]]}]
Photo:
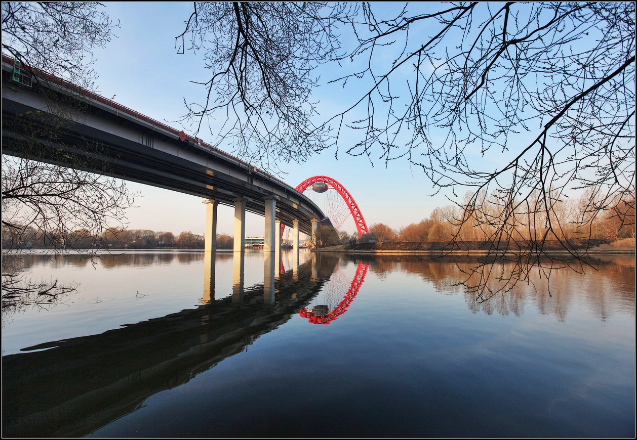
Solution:
[{"label": "bare branches against pale sky under the bridge, left edge", "polygon": [[124,182],[117,179],[10,156],[3,156],[2,197],[9,249],[17,249],[34,228],[47,248],[78,248],[74,244],[86,238],[96,252],[104,247],[108,225],[121,223],[132,203]]}]

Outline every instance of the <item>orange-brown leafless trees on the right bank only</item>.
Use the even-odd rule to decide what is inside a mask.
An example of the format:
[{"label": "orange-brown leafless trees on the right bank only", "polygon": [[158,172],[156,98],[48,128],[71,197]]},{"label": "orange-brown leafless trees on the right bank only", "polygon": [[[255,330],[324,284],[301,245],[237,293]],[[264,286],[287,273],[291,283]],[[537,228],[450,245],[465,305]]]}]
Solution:
[{"label": "orange-brown leafless trees on the right bank only", "polygon": [[[538,193],[535,197],[540,197]],[[480,195],[482,205],[475,207],[469,201],[473,194],[465,196],[466,205],[448,205],[433,210],[429,217],[399,230],[387,224],[376,223],[369,228],[369,237],[378,242],[446,242],[493,240],[571,240],[575,238],[635,237],[634,196],[619,198],[612,207],[591,209],[590,192],[573,200],[555,200],[550,214],[540,214],[529,209],[529,203],[514,203],[511,210],[498,203],[497,195]],[[496,230],[496,219],[506,217],[508,227]],[[347,237],[341,234],[341,239]]]}]

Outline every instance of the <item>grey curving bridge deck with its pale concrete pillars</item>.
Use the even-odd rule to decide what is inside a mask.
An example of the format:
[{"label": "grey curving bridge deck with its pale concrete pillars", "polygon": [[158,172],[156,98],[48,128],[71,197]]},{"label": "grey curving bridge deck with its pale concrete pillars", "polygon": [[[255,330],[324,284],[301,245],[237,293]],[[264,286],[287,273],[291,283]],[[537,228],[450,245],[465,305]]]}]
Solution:
[{"label": "grey curving bridge deck with its pale concrete pillars", "polygon": [[[68,151],[95,164],[87,171],[204,198],[206,251],[216,249],[219,203],[234,206],[234,251],[239,252],[245,244],[246,210],[265,217],[266,252],[280,249],[285,225],[294,230],[297,250],[299,231],[313,235],[320,221],[330,224],[303,193],[201,139],[63,79],[27,71],[5,55],[2,65],[3,154],[57,162],[56,152]],[[50,114],[71,115],[73,123],[47,125]],[[46,148],[33,156],[22,147],[26,126],[39,132],[53,127],[55,139],[38,138]],[[106,172],[100,168],[104,164]]]}]

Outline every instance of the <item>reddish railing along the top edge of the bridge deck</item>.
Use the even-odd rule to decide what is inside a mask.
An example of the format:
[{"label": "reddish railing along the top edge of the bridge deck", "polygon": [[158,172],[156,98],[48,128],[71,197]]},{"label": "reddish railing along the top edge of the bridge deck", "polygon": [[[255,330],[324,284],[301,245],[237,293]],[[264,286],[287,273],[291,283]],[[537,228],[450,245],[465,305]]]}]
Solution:
[{"label": "reddish railing along the top edge of the bridge deck", "polygon": [[[8,65],[12,65],[15,64],[15,59],[8,57],[8,55],[2,55],[2,59],[3,62],[6,62]],[[22,66],[20,67],[21,69],[25,69],[24,64],[22,64]],[[166,125],[160,121],[154,120],[153,118],[150,118],[148,116],[146,116],[145,114],[142,114],[138,111],[135,111],[133,109],[129,109],[126,106],[122,106],[122,104],[118,104],[117,102],[113,101],[112,99],[108,99],[108,98],[104,98],[101,95],[98,95],[95,92],[91,92],[90,90],[87,90],[83,87],[77,86],[69,81],[66,81],[66,79],[62,79],[62,78],[58,78],[57,76],[54,76],[52,74],[48,74],[45,71],[41,71],[39,69],[33,69],[32,67],[26,67],[26,70],[28,72],[30,72],[32,75],[34,76],[38,76],[41,77],[43,79],[47,79],[48,81],[51,81],[52,83],[55,83],[57,85],[61,85],[64,88],[67,88],[68,90],[71,90],[72,92],[76,92],[76,93],[80,93],[80,95],[87,97],[89,99],[92,100],[96,100],[97,102],[101,102],[102,104],[105,104],[106,106],[109,106],[113,109],[116,109],[117,111],[122,111],[125,114],[128,114],[129,116],[133,116],[134,118],[138,118],[141,121],[145,121],[147,123],[150,123],[151,125],[153,125],[154,127],[157,128],[161,128],[162,130],[165,130],[169,133],[172,133],[174,135],[176,135],[177,137],[179,137],[179,139],[182,139],[182,141],[190,141],[193,142],[195,145],[197,146],[201,146],[203,148],[206,148],[210,151],[212,151],[213,153],[220,155],[220,156],[224,156],[225,158],[232,160],[234,162],[237,162],[239,165],[245,167],[245,169],[247,170],[247,172],[250,172],[252,174],[258,174],[261,175],[262,177],[266,177],[266,179],[271,180],[271,181],[275,181],[278,184],[282,185],[283,187],[290,189],[294,192],[296,192],[296,189],[294,189],[294,187],[290,186],[289,184],[283,182],[282,180],[276,178],[275,176],[268,174],[262,170],[259,170],[257,167],[255,167],[254,165],[251,165],[248,162],[245,162],[243,160],[241,160],[240,158],[237,158],[229,153],[226,153],[223,150],[220,150],[216,147],[211,146],[210,144],[208,144],[208,142],[204,142],[203,139],[199,139],[198,137],[194,137],[191,136],[189,134],[185,134],[183,132],[183,130],[181,132],[179,132],[178,130],[176,130],[176,128],[170,127],[169,125]]]}]

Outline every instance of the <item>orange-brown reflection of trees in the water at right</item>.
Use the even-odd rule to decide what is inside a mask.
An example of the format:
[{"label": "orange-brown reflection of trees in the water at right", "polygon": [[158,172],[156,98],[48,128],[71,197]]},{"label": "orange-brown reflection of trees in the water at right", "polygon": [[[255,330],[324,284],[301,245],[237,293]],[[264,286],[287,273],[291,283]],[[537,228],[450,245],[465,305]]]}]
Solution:
[{"label": "orange-brown reflection of trees in the water at right", "polygon": [[[566,319],[569,306],[578,296],[585,298],[590,307],[605,320],[610,313],[609,304],[617,305],[619,310],[633,310],[634,313],[634,285],[635,270],[634,256],[614,255],[599,256],[589,259],[589,265],[579,265],[576,268],[580,274],[574,277],[571,266],[559,261],[542,261],[544,265],[553,263],[554,270],[549,279],[538,271],[529,272],[529,283],[517,284],[513,289],[502,290],[498,285],[498,278],[505,278],[517,269],[516,261],[496,261],[490,265],[493,273],[483,282],[492,292],[489,298],[467,291],[462,283],[466,281],[466,274],[475,267],[478,256],[447,256],[443,258],[427,259],[422,256],[392,255],[392,256],[361,256],[369,263],[369,268],[379,277],[385,277],[389,272],[402,271],[419,275],[429,282],[436,291],[443,294],[464,294],[469,310],[474,313],[483,312],[492,315],[513,313],[520,316],[524,313],[526,303],[534,303],[540,313],[555,315],[559,320]],[[557,264],[556,264],[557,263]],[[598,268],[598,270],[592,268]],[[478,277],[473,273],[472,277]],[[476,282],[469,278],[469,282]],[[506,282],[506,281],[504,281]],[[590,286],[603,286],[595,287]]]}]

